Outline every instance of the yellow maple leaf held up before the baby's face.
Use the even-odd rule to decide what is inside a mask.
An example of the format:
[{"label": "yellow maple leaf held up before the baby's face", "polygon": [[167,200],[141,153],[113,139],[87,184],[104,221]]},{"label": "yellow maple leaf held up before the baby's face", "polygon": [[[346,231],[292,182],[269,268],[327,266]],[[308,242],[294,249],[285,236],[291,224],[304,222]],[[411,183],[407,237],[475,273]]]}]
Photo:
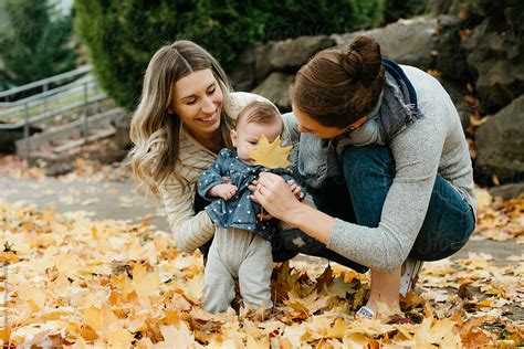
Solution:
[{"label": "yellow maple leaf held up before the baby's face", "polygon": [[287,160],[292,147],[281,147],[280,136],[270,144],[264,135],[256,144],[256,150],[248,150],[248,155],[254,159],[255,165],[262,165],[270,169],[285,168],[293,165]]}]

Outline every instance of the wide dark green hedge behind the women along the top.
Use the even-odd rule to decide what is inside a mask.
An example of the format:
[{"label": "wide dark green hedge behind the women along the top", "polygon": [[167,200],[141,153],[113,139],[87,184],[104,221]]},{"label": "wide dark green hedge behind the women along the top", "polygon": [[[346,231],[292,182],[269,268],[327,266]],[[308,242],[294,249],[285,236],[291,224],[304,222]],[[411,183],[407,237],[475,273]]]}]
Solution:
[{"label": "wide dark green hedge behind the women along the top", "polygon": [[75,29],[104,89],[133,109],[147,63],[163,44],[192,40],[228,71],[256,43],[380,25],[386,7],[387,0],[76,0]]}]

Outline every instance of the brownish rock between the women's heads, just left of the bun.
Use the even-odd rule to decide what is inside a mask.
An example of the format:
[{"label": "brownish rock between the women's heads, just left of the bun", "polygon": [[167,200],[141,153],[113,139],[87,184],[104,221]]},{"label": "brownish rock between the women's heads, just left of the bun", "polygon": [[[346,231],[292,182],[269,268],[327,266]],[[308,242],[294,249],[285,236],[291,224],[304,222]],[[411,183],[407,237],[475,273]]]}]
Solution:
[{"label": "brownish rock between the women's heads, just left of the bun", "polygon": [[261,54],[256,57],[256,82],[263,81],[270,72],[295,73],[316,52],[335,44],[335,40],[326,35],[298,36],[271,42],[263,47]]}]

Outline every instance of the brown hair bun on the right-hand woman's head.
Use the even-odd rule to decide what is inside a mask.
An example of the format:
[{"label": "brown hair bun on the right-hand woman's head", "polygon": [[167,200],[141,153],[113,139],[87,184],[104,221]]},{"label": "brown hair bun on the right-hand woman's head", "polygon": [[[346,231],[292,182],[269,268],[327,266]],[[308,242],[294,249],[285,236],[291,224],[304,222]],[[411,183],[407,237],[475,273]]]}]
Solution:
[{"label": "brown hair bun on the right-hand woman's head", "polygon": [[356,36],[343,53],[342,66],[347,74],[364,84],[373,83],[381,70],[380,45],[375,39]]}]

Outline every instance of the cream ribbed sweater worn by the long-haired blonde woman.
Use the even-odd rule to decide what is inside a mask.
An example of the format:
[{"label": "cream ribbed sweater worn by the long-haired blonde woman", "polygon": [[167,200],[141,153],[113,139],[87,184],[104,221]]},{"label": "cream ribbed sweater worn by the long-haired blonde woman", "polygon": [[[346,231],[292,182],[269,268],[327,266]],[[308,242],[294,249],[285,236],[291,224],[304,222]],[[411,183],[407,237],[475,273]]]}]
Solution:
[{"label": "cream ribbed sweater worn by the long-haired blonde woman", "polygon": [[[228,103],[224,103],[224,112],[232,118],[237,118],[240,110],[250,102],[268,99],[242,92],[231,93]],[[290,141],[297,140],[298,133],[294,117],[284,119],[284,134],[282,138]],[[291,134],[292,133],[292,134]],[[217,154],[202,146],[184,127],[180,127],[180,150],[177,171],[180,173],[185,184],[180,184],[175,178],[159,184],[159,191],[166,208],[169,226],[174,234],[178,248],[185,252],[193,252],[214,234],[214,225],[206,211],[195,213],[193,201],[198,176],[206,170],[214,160]]]}]

